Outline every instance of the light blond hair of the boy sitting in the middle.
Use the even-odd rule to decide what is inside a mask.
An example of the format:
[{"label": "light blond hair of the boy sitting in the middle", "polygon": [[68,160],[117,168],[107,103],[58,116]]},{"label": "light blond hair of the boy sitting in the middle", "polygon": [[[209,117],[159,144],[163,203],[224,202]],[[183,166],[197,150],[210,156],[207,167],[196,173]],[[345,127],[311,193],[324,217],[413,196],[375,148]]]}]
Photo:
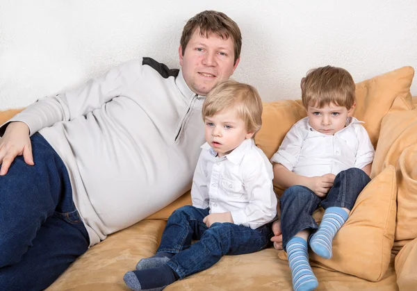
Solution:
[{"label": "light blond hair of the boy sitting in the middle", "polygon": [[258,91],[251,85],[225,81],[211,90],[204,100],[203,120],[225,109],[234,109],[245,122],[248,132],[256,133],[262,126],[262,101]]}]

